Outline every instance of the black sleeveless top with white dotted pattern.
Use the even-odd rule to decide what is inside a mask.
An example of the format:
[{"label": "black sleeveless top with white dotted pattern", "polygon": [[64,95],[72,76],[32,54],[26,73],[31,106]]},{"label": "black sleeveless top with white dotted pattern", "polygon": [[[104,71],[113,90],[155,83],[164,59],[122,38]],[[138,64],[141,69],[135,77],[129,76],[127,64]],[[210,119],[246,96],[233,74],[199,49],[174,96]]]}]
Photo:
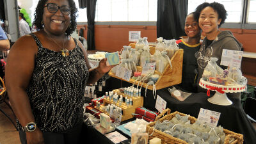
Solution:
[{"label": "black sleeveless top with white dotted pattern", "polygon": [[61,52],[45,49],[35,34],[38,45],[35,68],[28,93],[37,127],[41,131],[65,132],[83,122],[84,88],[88,68],[82,49],[77,45],[63,57]]}]

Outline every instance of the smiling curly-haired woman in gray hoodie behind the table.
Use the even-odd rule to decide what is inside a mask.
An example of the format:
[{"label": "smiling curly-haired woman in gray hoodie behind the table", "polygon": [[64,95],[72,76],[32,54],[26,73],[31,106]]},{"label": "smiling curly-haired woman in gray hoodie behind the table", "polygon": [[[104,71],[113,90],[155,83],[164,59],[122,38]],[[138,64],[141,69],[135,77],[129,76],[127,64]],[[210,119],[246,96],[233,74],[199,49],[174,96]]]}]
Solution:
[{"label": "smiling curly-haired woman in gray hoodie behind the table", "polygon": [[[227,18],[227,11],[223,4],[216,2],[202,3],[196,8],[195,12],[198,13],[196,19],[198,19],[199,27],[205,33],[202,46],[196,53],[199,82],[211,57],[218,58],[217,65],[226,69],[227,67],[220,65],[223,49],[241,51],[242,44],[238,42],[231,31],[220,30],[220,26]],[[198,87],[198,89],[204,91],[202,88]],[[240,99],[240,93],[234,93],[233,96]]]}]

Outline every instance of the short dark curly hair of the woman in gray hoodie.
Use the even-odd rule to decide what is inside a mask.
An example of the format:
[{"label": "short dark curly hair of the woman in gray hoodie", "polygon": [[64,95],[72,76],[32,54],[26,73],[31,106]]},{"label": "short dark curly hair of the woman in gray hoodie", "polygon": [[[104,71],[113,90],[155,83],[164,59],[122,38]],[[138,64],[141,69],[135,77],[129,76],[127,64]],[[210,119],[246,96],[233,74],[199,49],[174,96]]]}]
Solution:
[{"label": "short dark curly hair of the woman in gray hoodie", "polygon": [[204,10],[204,8],[206,8],[207,6],[210,6],[211,8],[213,8],[213,10],[215,10],[218,13],[218,19],[221,19],[221,22],[219,24],[219,27],[221,26],[221,24],[223,24],[225,22],[225,20],[227,19],[227,10],[225,10],[225,7],[223,6],[223,4],[221,3],[202,3],[199,6],[197,6],[195,12],[196,12],[196,19],[199,19],[199,15],[202,12],[202,10]]}]

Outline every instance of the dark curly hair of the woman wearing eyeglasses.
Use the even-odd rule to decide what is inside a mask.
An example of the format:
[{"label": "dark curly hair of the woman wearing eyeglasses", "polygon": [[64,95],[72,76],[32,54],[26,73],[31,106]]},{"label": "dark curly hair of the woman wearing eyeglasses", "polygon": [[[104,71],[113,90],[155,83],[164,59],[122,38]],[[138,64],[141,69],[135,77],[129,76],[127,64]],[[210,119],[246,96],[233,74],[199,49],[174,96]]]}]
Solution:
[{"label": "dark curly hair of the woman wearing eyeglasses", "polygon": [[[68,4],[70,6],[71,12],[70,12],[70,26],[68,26],[66,33],[67,35],[71,35],[71,33],[73,33],[74,30],[76,30],[76,26],[77,26],[77,22],[76,22],[76,18],[77,18],[77,8],[76,8],[76,3],[74,3],[73,0],[67,0]],[[42,26],[42,20],[43,20],[43,14],[44,14],[44,5],[47,2],[47,0],[40,0],[38,1],[38,4],[36,6],[36,10],[35,10],[35,19],[33,21],[33,24],[36,26],[36,28],[38,30],[40,29],[44,29],[44,27]]]}]

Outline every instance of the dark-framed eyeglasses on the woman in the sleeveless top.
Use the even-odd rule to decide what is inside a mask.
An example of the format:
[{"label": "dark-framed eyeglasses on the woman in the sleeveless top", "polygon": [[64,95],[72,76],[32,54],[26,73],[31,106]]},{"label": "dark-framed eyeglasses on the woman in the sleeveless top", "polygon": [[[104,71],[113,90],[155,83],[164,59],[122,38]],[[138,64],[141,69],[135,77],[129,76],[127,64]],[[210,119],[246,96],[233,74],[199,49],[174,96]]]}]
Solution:
[{"label": "dark-framed eyeglasses on the woman in the sleeveless top", "polygon": [[56,13],[60,9],[60,12],[63,13],[63,15],[69,15],[71,11],[70,6],[58,6],[55,3],[47,3],[44,7],[47,7],[47,10],[50,13]]}]

